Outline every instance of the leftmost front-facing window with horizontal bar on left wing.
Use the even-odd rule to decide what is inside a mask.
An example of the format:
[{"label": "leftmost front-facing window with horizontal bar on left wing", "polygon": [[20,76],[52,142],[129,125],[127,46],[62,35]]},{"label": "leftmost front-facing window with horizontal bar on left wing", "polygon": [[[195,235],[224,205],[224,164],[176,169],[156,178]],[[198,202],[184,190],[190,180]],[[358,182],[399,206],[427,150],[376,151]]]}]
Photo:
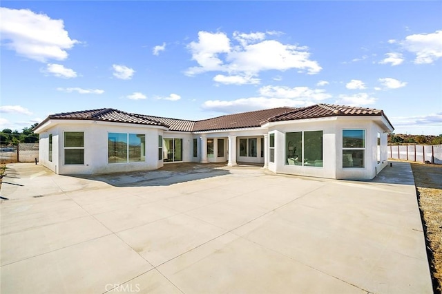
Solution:
[{"label": "leftmost front-facing window with horizontal bar on left wing", "polygon": [[84,132],[64,132],[64,164],[84,165]]}]

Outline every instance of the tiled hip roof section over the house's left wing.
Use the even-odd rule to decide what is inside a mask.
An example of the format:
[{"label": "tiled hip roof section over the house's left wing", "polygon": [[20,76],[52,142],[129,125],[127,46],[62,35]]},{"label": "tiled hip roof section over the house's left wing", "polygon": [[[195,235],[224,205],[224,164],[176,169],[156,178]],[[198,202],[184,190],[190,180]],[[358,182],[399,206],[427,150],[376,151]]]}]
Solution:
[{"label": "tiled hip roof section over the house's left wing", "polygon": [[60,114],[51,114],[42,123],[37,125],[37,129],[40,125],[46,123],[50,119],[60,120],[100,120],[109,121],[115,123],[134,123],[138,125],[158,125],[162,127],[169,127],[164,123],[157,120],[151,120],[140,116],[140,114],[130,114],[128,112],[122,112],[112,108],[102,108],[93,110],[84,110],[79,112],[62,112]]}]

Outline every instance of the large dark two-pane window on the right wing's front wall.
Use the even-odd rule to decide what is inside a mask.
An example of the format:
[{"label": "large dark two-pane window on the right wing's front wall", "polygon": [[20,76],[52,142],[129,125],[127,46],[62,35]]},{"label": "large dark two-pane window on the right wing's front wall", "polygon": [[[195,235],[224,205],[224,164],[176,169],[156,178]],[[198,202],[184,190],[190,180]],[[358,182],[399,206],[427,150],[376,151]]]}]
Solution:
[{"label": "large dark two-pane window on the right wing's front wall", "polygon": [[285,134],[286,165],[323,167],[323,131]]}]

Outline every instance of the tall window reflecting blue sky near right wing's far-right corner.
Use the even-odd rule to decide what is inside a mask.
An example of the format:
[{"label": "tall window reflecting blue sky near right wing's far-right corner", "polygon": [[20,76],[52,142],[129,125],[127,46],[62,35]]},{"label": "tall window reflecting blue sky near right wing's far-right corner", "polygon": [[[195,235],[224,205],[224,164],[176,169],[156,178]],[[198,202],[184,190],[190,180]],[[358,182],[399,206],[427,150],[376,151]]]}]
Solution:
[{"label": "tall window reflecting blue sky near right wing's far-right corner", "polygon": [[365,130],[343,130],[343,167],[365,167]]}]

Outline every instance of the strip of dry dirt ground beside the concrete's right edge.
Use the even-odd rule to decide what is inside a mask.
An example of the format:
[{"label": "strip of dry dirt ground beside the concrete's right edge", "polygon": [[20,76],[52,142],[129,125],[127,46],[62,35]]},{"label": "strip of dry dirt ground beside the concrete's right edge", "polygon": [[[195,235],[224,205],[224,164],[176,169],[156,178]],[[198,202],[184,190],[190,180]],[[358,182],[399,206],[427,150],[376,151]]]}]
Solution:
[{"label": "strip of dry dirt ground beside the concrete's right edge", "polygon": [[442,293],[442,165],[411,162],[434,293]]}]

